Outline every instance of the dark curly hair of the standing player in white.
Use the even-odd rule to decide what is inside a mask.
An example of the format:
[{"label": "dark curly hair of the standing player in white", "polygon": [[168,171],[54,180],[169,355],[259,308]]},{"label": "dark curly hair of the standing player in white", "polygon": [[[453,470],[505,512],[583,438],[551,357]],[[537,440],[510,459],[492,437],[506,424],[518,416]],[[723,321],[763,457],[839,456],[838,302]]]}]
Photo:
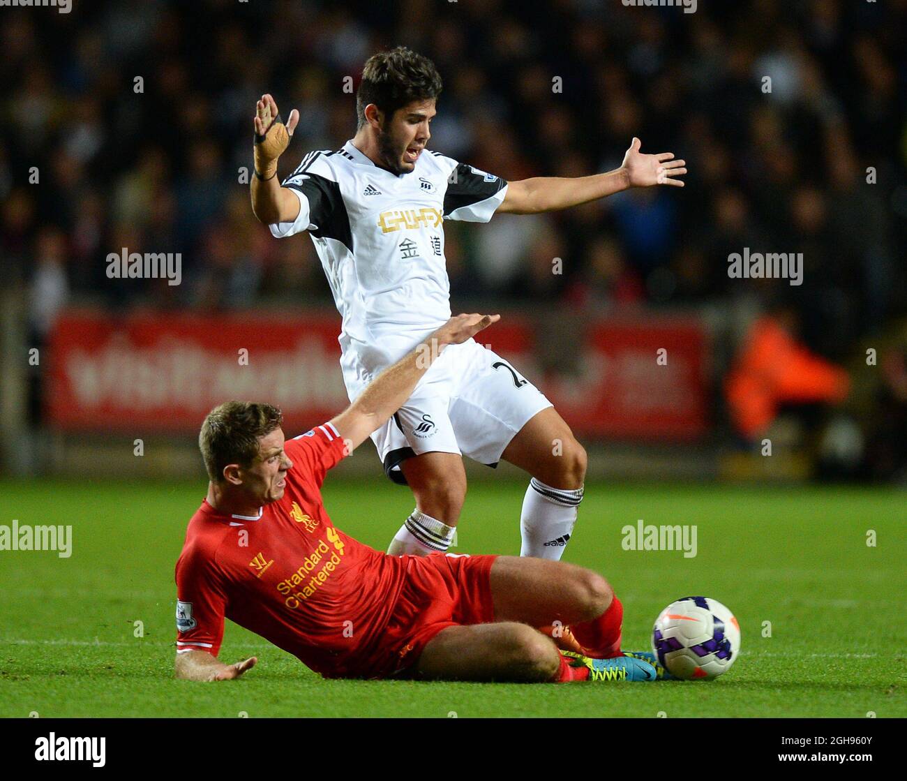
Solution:
[{"label": "dark curly hair of the standing player in white", "polygon": [[356,129],[366,124],[366,106],[375,105],[390,119],[397,109],[441,94],[441,76],[434,63],[405,46],[373,54],[362,69],[356,91]]}]

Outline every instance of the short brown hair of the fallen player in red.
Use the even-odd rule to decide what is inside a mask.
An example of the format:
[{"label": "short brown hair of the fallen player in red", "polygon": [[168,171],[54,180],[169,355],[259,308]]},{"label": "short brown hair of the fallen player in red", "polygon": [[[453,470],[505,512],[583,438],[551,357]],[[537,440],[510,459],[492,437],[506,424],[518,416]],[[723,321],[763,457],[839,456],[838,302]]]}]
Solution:
[{"label": "short brown hair of the fallen player in red", "polygon": [[273,405],[228,401],[214,407],[199,434],[199,449],[210,479],[223,481],[227,464],[250,466],[260,452],[258,437],[280,425],[283,413]]}]

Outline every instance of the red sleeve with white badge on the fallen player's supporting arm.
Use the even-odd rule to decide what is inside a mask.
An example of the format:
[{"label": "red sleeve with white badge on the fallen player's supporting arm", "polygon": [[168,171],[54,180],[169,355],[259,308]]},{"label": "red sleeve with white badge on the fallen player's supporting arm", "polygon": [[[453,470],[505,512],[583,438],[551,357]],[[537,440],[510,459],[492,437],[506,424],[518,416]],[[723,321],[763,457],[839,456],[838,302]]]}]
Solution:
[{"label": "red sleeve with white badge on the fallen player's supporting arm", "polygon": [[215,562],[200,549],[176,562],[177,653],[204,650],[217,656],[224,636],[227,597]]}]

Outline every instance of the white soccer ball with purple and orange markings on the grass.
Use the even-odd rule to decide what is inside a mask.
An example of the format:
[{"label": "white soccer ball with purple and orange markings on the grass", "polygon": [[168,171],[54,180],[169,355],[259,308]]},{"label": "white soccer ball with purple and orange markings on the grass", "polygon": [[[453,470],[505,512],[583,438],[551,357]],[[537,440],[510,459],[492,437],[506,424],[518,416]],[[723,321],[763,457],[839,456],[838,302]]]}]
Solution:
[{"label": "white soccer ball with purple and orange markings on the grass", "polygon": [[740,625],[721,602],[684,597],[661,611],[652,649],[675,678],[717,678],[740,653]]}]

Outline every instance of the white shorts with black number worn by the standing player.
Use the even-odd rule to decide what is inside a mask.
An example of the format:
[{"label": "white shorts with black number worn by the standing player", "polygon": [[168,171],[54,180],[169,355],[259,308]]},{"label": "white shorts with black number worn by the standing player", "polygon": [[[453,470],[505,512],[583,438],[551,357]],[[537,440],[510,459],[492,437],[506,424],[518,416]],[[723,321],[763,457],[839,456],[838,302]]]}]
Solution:
[{"label": "white shorts with black number worn by the standing player", "polygon": [[[350,399],[365,388],[356,356],[342,361]],[[358,365],[357,365],[358,364]],[[508,361],[474,339],[444,347],[405,405],[372,434],[385,473],[406,484],[400,463],[413,455],[468,455],[497,466],[514,434],[551,402]]]}]

